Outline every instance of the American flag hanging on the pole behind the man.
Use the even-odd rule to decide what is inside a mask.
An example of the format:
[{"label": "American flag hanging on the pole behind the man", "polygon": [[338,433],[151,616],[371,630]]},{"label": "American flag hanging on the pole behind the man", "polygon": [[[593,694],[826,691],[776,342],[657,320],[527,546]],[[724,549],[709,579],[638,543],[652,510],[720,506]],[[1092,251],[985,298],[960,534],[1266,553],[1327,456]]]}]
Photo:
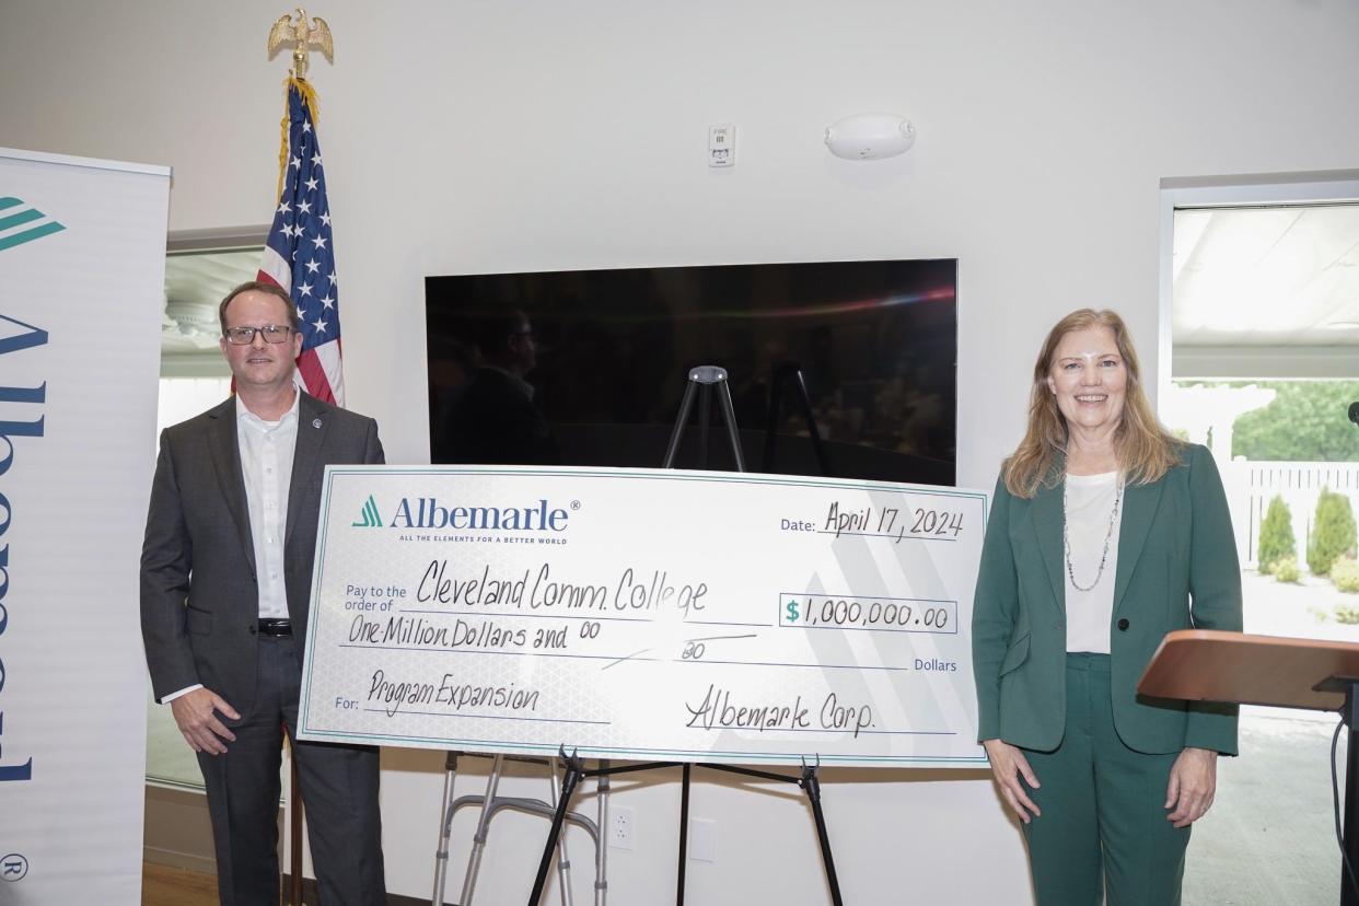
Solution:
[{"label": "American flag hanging on the pole behind the man", "polygon": [[280,155],[283,187],[258,278],[283,287],[298,307],[302,319],[298,384],[318,399],[342,406],[340,287],[314,107],[311,87],[289,79],[288,137]]}]

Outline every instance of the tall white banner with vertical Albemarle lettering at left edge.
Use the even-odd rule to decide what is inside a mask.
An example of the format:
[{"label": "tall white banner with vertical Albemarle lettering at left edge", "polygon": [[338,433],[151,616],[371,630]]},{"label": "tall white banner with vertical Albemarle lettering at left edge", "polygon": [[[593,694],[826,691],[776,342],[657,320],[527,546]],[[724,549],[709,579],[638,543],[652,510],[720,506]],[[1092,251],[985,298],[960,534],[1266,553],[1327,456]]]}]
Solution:
[{"label": "tall white banner with vertical Albemarle lettering at left edge", "polygon": [[141,901],[170,170],[0,148],[0,902]]}]

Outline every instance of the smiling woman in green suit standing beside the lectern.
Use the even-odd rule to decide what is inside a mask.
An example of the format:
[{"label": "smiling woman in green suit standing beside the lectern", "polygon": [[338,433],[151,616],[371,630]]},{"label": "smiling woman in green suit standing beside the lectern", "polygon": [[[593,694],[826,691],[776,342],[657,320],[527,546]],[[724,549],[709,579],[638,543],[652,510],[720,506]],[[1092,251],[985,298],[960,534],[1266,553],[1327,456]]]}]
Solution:
[{"label": "smiling woman in green suit standing beside the lectern", "polygon": [[1123,319],[1074,311],[1042,345],[996,482],[972,622],[978,739],[1041,906],[1180,902],[1237,716],[1136,683],[1190,628],[1241,629],[1222,479],[1157,421]]}]

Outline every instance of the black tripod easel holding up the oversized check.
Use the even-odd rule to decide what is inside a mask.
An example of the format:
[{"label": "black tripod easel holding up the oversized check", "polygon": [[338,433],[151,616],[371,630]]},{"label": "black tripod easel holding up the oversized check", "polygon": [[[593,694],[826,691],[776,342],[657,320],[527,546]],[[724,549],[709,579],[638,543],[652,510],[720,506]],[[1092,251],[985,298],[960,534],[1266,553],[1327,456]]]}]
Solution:
[{"label": "black tripod easel holding up the oversized check", "polygon": [[[795,367],[794,367],[795,369]],[[796,372],[798,386],[802,388],[802,398],[806,401],[806,388],[802,384],[802,374]],[[741,455],[741,436],[737,432],[737,416],[731,406],[731,388],[727,384],[727,372],[724,368],[718,368],[715,365],[700,365],[689,371],[689,384],[685,387],[684,399],[680,402],[680,414],[675,418],[674,432],[670,435],[670,447],[666,451],[666,459],[662,463],[662,469],[673,469],[675,454],[680,451],[680,440],[684,437],[685,427],[689,421],[689,412],[693,407],[693,398],[696,394],[701,394],[699,399],[699,444],[700,444],[700,463],[707,465],[708,462],[708,422],[712,413],[712,394],[718,394],[718,399],[722,405],[722,416],[726,422],[727,436],[731,441],[731,454],[735,459],[737,471],[745,471],[745,458]],[[777,388],[775,390],[777,398]],[[811,418],[810,405],[805,406],[807,422],[811,428],[811,437],[818,447],[818,455],[825,466],[825,456],[819,452],[819,435],[815,431],[815,424]],[[772,422],[771,422],[772,424]],[[772,458],[772,446],[766,447],[765,456]],[[548,871],[552,868],[552,853],[557,848],[557,838],[561,834],[561,826],[565,820],[567,810],[571,804],[571,796],[576,792],[576,786],[586,777],[612,777],[614,774],[629,774],[639,770],[659,770],[663,767],[680,767],[681,769],[681,788],[680,788],[680,861],[675,877],[675,905],[684,906],[684,887],[685,887],[685,864],[689,854],[689,785],[690,774],[694,767],[707,767],[709,770],[720,770],[728,774],[739,774],[743,777],[756,777],[758,780],[775,780],[790,784],[796,784],[807,795],[807,801],[811,803],[811,815],[817,822],[817,841],[821,844],[821,863],[826,871],[826,884],[830,888],[830,901],[834,906],[843,906],[844,901],[840,896],[840,879],[836,876],[836,863],[830,853],[830,838],[826,834],[826,819],[825,814],[821,811],[821,781],[817,777],[817,772],[821,767],[821,759],[818,758],[815,763],[809,765],[806,759],[802,762],[802,773],[798,776],[777,774],[768,770],[756,770],[753,767],[738,767],[735,765],[709,765],[704,762],[689,763],[689,762],[644,762],[639,765],[620,765],[612,766],[606,762],[601,762],[601,766],[595,770],[587,770],[584,766],[584,759],[578,758],[576,753],[572,751],[567,754],[565,746],[560,748],[557,755],[561,763],[565,766],[565,776],[561,778],[561,795],[557,797],[557,811],[552,819],[552,829],[548,831],[548,842],[542,849],[542,861],[538,863],[538,875],[533,882],[533,892],[529,895],[529,906],[538,906],[538,899],[542,896],[542,890],[548,883]],[[607,844],[601,841],[601,846]]]}]

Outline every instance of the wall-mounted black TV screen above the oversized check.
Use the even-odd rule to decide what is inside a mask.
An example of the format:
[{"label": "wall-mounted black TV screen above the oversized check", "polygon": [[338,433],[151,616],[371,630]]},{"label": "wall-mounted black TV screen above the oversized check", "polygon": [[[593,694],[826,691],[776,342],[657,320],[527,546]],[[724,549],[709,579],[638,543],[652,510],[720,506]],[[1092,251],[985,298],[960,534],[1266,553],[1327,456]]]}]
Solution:
[{"label": "wall-mounted black TV screen above the oversized check", "polygon": [[[718,365],[747,470],[951,485],[957,273],[939,259],[428,277],[431,462],[662,466],[690,368]],[[716,393],[694,394],[671,465],[735,469]]]}]

